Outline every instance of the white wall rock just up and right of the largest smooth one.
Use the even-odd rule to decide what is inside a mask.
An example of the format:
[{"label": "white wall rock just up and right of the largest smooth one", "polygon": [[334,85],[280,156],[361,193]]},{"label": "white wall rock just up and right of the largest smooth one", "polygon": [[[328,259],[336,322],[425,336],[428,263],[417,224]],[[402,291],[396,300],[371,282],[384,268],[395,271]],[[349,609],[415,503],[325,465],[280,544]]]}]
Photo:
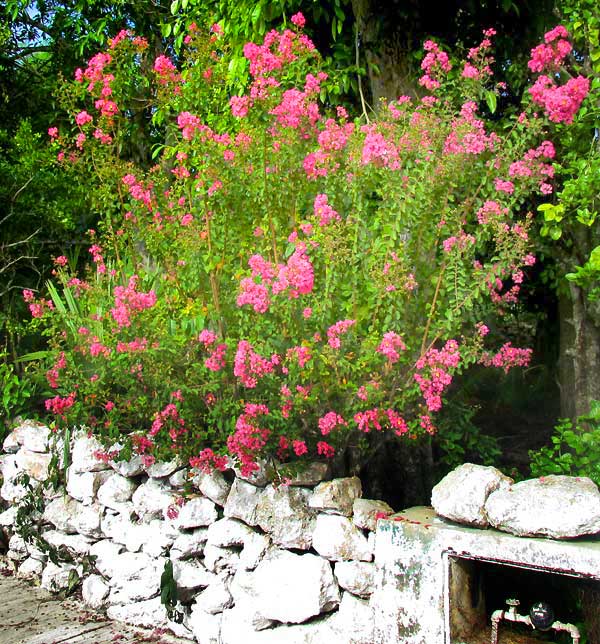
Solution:
[{"label": "white wall rock just up and right of the largest smooth one", "polygon": [[363,533],[348,519],[319,514],[313,532],[313,548],[330,561],[371,561],[372,548]]}]

